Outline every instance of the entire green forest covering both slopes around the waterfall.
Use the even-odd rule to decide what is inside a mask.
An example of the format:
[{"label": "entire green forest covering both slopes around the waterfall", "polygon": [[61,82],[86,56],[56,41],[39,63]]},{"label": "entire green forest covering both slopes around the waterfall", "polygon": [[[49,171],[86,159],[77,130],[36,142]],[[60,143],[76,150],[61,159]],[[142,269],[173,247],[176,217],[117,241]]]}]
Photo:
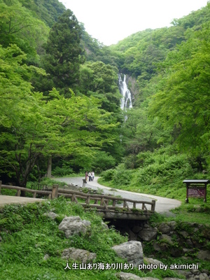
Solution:
[{"label": "entire green forest covering both slopes around the waterfall", "polygon": [[[114,186],[154,194],[208,176],[209,4],[110,47],[57,0],[0,6],[2,180],[26,186],[51,161],[52,174],[111,168]],[[118,73],[133,90],[126,122]]]}]

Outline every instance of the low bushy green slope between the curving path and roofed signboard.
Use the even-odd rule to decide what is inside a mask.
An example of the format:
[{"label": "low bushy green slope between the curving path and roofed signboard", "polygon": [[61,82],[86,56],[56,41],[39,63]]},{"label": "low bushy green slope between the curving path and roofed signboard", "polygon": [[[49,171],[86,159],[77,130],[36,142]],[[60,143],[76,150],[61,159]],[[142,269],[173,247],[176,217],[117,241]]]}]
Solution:
[{"label": "low bushy green slope between the curving path and roofed signboard", "polygon": [[[135,161],[136,168],[130,168]],[[186,199],[186,185],[183,179],[208,179],[208,174],[197,172],[195,162],[173,147],[160,148],[153,153],[139,153],[136,158],[126,158],[116,169],[102,172],[100,183],[110,187],[126,189],[137,193],[150,193],[182,202]],[[194,168],[193,168],[194,166]],[[207,193],[210,188],[208,187]],[[202,199],[198,199],[198,202]]]}]

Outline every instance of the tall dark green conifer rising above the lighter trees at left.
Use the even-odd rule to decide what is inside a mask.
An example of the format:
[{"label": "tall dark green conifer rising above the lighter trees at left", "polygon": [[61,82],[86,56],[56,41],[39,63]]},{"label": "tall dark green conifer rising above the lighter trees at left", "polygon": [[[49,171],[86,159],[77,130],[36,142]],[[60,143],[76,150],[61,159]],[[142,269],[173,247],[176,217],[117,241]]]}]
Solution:
[{"label": "tall dark green conifer rising above the lighter trees at left", "polygon": [[82,48],[80,48],[81,29],[76,16],[66,10],[50,29],[48,41],[43,45],[45,55],[41,66],[48,76],[35,83],[36,89],[45,95],[56,87],[60,94],[70,97],[69,88],[75,88],[78,80]]}]

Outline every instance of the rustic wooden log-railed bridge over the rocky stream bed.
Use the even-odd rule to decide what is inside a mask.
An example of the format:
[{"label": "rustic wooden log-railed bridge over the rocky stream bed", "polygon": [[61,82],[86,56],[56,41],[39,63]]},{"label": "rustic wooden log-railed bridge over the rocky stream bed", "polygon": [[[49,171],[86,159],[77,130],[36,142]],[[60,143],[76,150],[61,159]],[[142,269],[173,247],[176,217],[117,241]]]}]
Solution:
[{"label": "rustic wooden log-railed bridge over the rocky stream bed", "polygon": [[61,189],[57,185],[52,186],[51,190],[31,190],[17,186],[2,185],[0,181],[0,194],[2,188],[17,190],[16,196],[19,197],[21,192],[32,193],[34,198],[39,195],[39,197],[47,197],[50,200],[63,196],[69,198],[71,202],[82,205],[85,209],[96,209],[106,219],[144,221],[148,220],[155,211],[155,200],[146,202],[109,195],[92,195],[75,190]]}]

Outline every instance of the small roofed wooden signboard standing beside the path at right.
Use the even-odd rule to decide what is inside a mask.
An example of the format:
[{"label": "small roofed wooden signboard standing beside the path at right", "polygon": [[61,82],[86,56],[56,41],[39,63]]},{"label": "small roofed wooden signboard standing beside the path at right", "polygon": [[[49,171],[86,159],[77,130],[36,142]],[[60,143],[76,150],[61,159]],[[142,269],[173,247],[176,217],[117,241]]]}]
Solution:
[{"label": "small roofed wooden signboard standing beside the path at right", "polygon": [[207,184],[209,180],[184,180],[186,183],[187,194],[186,202],[188,203],[188,197],[201,197],[204,202],[207,202]]}]

